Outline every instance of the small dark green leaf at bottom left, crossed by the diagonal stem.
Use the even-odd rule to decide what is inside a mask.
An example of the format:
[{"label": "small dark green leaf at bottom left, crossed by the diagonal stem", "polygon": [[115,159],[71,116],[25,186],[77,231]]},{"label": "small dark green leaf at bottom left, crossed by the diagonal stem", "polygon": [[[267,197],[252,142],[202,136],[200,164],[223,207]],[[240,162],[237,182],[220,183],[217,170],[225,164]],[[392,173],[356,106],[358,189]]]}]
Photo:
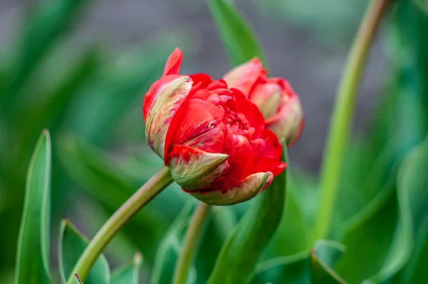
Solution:
[{"label": "small dark green leaf at bottom left, crossed by the diagonal stem", "polygon": [[[78,258],[88,246],[89,240],[82,235],[68,220],[62,220],[59,231],[59,273],[61,280],[66,283],[66,279],[73,272]],[[100,255],[91,268],[91,272],[85,284],[108,284],[110,283],[110,268],[106,257]]]}]

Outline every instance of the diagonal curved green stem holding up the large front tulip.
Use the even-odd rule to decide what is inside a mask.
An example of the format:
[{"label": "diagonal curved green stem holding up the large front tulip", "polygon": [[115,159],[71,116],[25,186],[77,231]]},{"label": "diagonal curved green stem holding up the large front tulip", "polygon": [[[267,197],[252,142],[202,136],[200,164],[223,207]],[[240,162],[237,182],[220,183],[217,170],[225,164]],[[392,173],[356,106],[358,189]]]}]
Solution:
[{"label": "diagonal curved green stem holding up the large front tulip", "polygon": [[98,230],[86,250],[79,258],[73,273],[68,278],[68,284],[73,283],[73,275],[77,274],[82,282],[88,277],[89,271],[96,259],[103,252],[119,230],[135,215],[144,205],[151,201],[158,193],[173,182],[168,167],[163,167],[150,180],[147,181],[131,198],[123,203],[121,208],[111,216],[110,219]]}]

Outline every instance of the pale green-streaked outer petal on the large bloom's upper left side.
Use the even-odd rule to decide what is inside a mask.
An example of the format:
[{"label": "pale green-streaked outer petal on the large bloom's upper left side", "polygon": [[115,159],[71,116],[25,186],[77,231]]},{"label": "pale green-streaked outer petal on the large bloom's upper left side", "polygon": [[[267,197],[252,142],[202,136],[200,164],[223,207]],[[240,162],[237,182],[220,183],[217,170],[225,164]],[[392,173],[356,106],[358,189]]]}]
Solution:
[{"label": "pale green-streaked outer petal on the large bloom's upper left side", "polygon": [[188,96],[192,80],[188,76],[167,75],[153,83],[144,98],[146,139],[158,156],[165,156],[165,138],[178,108]]}]

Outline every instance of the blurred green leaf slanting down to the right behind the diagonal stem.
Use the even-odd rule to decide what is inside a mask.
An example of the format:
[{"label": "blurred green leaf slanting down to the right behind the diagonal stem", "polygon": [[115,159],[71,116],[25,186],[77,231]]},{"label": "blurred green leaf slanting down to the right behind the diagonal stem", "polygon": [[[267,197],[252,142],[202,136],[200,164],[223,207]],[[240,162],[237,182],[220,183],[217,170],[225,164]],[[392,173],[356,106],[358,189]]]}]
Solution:
[{"label": "blurred green leaf slanting down to the right behind the diagonal stem", "polygon": [[[59,158],[67,173],[108,213],[116,211],[162,166],[161,159],[153,153],[142,153],[146,157],[144,161],[130,163],[126,158],[123,163],[124,157],[112,156],[71,133],[62,135],[58,146]],[[132,176],[133,172],[138,176]],[[158,243],[184,204],[183,196],[188,197],[173,183],[123,228],[147,263],[153,264]]]}]

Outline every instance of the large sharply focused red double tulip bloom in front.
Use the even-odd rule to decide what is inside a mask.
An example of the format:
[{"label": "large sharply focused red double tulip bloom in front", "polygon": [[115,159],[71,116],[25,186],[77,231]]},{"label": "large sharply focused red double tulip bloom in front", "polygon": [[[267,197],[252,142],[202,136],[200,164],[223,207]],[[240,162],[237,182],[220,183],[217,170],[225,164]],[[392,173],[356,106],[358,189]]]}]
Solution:
[{"label": "large sharply focused red double tulip bloom in front", "polygon": [[200,201],[247,201],[284,170],[282,145],[238,89],[204,73],[179,75],[182,59],[175,49],[146,93],[148,144],[183,190]]}]

